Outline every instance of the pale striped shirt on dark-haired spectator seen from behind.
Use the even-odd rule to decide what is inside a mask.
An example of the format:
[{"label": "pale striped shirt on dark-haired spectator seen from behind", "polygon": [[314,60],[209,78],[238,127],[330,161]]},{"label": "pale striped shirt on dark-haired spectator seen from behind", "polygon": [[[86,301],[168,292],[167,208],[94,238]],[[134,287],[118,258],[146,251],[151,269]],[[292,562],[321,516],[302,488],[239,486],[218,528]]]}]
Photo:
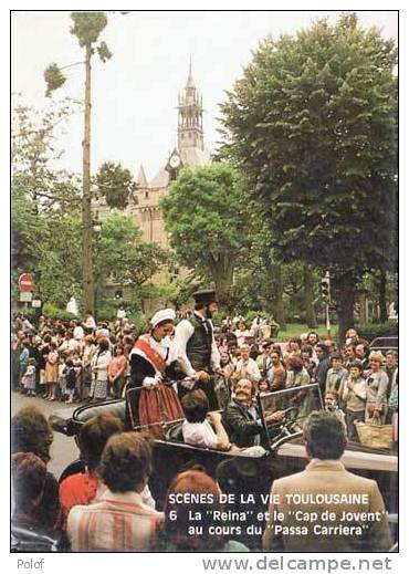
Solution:
[{"label": "pale striped shirt on dark-haired spectator seen from behind", "polygon": [[67,534],[73,552],[147,551],[164,521],[137,492],[111,492],[90,505],[74,507]]}]

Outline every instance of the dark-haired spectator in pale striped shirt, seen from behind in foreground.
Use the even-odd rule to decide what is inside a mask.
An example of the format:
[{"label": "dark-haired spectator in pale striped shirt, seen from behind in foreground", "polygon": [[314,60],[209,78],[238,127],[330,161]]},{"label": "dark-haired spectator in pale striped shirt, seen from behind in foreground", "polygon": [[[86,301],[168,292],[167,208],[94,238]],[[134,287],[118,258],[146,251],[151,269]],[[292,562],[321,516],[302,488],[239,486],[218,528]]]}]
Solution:
[{"label": "dark-haired spectator in pale striped shirt, seen from behind in foreground", "polygon": [[67,534],[74,552],[148,551],[164,514],[143,502],[151,471],[153,441],[140,432],[112,436],[102,455],[99,474],[107,490],[98,501],[76,505]]}]

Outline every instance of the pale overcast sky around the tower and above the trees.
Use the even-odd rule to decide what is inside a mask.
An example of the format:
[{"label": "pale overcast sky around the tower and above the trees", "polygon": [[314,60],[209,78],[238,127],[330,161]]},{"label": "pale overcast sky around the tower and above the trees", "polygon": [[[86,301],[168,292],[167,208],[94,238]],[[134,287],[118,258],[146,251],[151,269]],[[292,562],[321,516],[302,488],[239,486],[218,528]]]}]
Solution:
[{"label": "pale overcast sky around the tower and above the trees", "polygon": [[[176,145],[177,97],[185,86],[189,58],[196,85],[203,96],[204,140],[214,149],[224,91],[240,77],[259,40],[282,32],[293,33],[339,12],[130,12],[108,13],[108,25],[101,35],[113,52],[106,64],[94,59],[92,171],[105,160],[120,163],[136,175],[143,163],[148,178],[165,163]],[[385,38],[398,38],[396,11],[358,12],[364,27],[381,28]],[[43,71],[52,62],[67,65],[83,60],[83,51],[70,34],[70,12],[13,12],[12,91],[22,93],[24,103],[43,108]],[[83,98],[84,69],[66,70],[65,85],[54,98]],[[60,166],[82,169],[83,118],[71,118],[62,136],[65,154]]]}]

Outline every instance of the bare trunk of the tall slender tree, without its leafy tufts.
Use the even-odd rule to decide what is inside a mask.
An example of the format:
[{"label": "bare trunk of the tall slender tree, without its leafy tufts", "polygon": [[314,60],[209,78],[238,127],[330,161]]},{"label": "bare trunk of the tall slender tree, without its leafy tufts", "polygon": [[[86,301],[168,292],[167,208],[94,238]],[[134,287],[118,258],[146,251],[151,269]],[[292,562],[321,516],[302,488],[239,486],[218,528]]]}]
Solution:
[{"label": "bare trunk of the tall slender tree, without its leafy tufts", "polygon": [[83,312],[95,313],[91,212],[91,44],[85,46],[85,111],[83,139]]}]

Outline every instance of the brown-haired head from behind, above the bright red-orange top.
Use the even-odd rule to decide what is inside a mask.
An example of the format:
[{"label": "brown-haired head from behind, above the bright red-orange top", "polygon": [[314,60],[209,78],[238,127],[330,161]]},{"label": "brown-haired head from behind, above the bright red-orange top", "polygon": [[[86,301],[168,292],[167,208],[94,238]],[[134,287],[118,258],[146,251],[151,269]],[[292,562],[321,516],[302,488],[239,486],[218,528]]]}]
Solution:
[{"label": "brown-haired head from behind, above the bright red-orange top", "polygon": [[96,470],[108,438],[122,431],[123,424],[119,418],[108,413],[96,415],[82,426],[80,449],[88,471]]}]

